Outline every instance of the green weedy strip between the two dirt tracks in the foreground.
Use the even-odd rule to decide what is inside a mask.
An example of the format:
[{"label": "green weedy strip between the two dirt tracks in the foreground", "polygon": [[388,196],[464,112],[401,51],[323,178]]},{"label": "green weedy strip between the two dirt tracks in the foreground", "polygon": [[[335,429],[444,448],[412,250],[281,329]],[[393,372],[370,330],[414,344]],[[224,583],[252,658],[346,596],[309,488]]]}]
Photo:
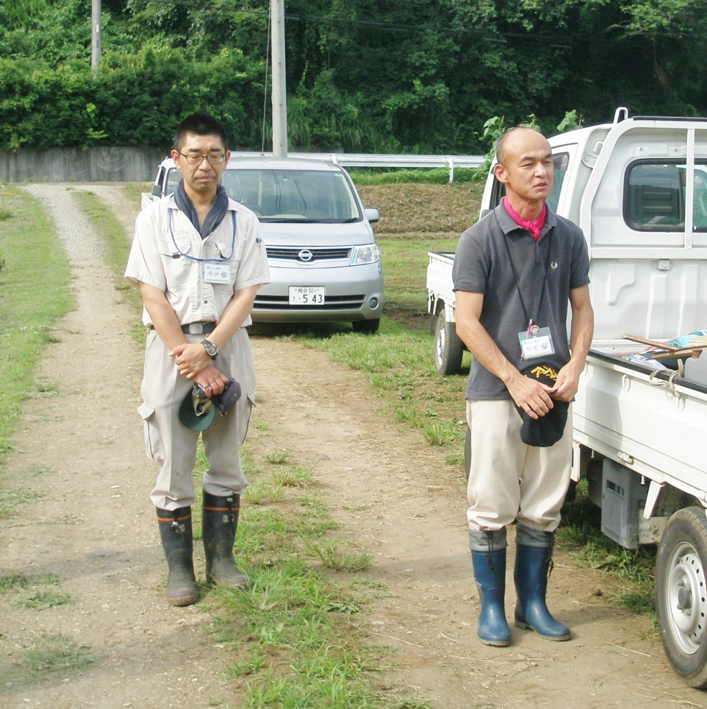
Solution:
[{"label": "green weedy strip between the two dirt tracks in the foreground", "polygon": [[[312,489],[311,467],[297,464],[289,451],[260,459],[252,445],[246,441],[241,449],[251,484],[236,545],[250,586],[214,590],[211,610],[214,639],[233,656],[228,674],[243,683],[243,706],[402,706],[375,691],[372,678],[389,669],[391,650],[369,646],[357,620],[368,593],[385,593],[361,575],[372,555],[339,532]],[[200,451],[197,479],[205,468]]]}]

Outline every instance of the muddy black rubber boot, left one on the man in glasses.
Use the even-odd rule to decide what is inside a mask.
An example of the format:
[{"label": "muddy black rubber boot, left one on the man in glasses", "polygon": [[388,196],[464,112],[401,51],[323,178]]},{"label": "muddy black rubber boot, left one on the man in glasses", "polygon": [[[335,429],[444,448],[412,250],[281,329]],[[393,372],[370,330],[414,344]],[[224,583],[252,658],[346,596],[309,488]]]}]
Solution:
[{"label": "muddy black rubber boot, left one on the man in glasses", "polygon": [[177,510],[157,508],[162,549],[169,566],[167,601],[171,605],[191,605],[199,600],[194,577],[194,542],[191,537],[191,507]]}]

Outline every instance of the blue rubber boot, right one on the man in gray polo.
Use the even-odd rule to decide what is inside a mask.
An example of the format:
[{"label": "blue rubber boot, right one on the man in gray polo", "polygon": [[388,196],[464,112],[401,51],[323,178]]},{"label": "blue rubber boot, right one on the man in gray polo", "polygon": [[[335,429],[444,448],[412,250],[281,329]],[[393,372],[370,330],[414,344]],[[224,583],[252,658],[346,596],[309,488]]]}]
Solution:
[{"label": "blue rubber boot, right one on the man in gray polo", "polygon": [[554,541],[555,532],[517,526],[516,566],[513,571],[518,595],[516,627],[535,630],[545,640],[569,640],[571,635],[567,625],[553,618],[545,605]]}]

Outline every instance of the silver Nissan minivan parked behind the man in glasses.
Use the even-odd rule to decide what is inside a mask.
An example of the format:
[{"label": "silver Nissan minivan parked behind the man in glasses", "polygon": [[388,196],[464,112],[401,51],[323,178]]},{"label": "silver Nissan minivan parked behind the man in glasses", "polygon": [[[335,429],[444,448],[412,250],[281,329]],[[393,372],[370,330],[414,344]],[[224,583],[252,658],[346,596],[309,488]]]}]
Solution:
[{"label": "silver Nissan minivan parked behind the man in glasses", "polygon": [[[174,191],[181,173],[164,160],[152,196]],[[381,254],[350,177],[337,165],[297,157],[231,157],[223,186],[262,225],[272,282],[255,297],[254,322],[348,321],[378,330],[383,310]]]}]

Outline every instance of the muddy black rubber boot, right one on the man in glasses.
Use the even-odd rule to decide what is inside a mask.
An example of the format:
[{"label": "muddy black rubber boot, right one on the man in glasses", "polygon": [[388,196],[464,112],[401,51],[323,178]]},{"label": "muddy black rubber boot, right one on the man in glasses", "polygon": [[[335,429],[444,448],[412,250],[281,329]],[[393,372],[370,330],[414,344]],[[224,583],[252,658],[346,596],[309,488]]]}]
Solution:
[{"label": "muddy black rubber boot, right one on the man in glasses", "polygon": [[206,583],[226,588],[247,588],[248,579],[233,560],[235,530],[238,529],[240,495],[217,497],[204,493],[201,536],[206,554]]}]

